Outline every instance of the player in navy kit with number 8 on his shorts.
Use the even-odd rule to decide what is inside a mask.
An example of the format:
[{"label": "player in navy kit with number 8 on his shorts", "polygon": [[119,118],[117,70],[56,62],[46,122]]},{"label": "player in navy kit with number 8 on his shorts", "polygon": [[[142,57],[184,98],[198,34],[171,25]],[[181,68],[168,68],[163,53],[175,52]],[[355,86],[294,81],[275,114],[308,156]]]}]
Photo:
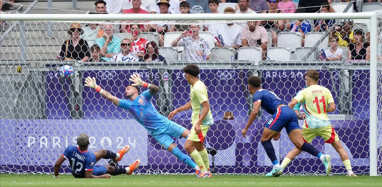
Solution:
[{"label": "player in navy kit with number 8 on his shorts", "polygon": [[[260,139],[261,144],[264,147],[265,152],[273,163],[273,169],[267,173],[267,177],[278,177],[282,174],[283,169],[278,163],[275,149],[272,145],[272,138],[280,136],[281,130],[285,127],[286,133],[290,140],[295,144],[298,150],[303,150],[310,153],[313,156],[317,156],[325,165],[326,169],[331,169],[330,156],[320,153],[313,145],[304,142],[303,134],[300,126],[298,125],[298,119],[293,110],[288,107],[288,103],[281,100],[277,95],[269,90],[261,89],[261,79],[256,76],[248,78],[249,93],[253,94],[253,110],[249,115],[248,123],[246,127],[241,131],[244,138],[246,137],[248,128],[255,120],[257,113],[259,113],[260,106],[272,114],[272,118],[265,124],[262,137]],[[329,169],[329,170],[330,170]]]}]

